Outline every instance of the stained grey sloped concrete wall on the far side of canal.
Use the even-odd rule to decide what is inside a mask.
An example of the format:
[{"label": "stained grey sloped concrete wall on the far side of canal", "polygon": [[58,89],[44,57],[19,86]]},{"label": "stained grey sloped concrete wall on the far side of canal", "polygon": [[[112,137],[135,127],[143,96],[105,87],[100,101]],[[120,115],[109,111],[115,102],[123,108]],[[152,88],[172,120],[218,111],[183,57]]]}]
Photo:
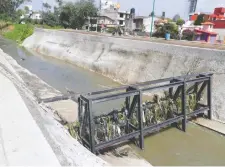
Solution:
[{"label": "stained grey sloped concrete wall on the far side of canal", "polygon": [[214,118],[225,121],[225,51],[42,29],[23,46],[125,84],[212,72]]}]

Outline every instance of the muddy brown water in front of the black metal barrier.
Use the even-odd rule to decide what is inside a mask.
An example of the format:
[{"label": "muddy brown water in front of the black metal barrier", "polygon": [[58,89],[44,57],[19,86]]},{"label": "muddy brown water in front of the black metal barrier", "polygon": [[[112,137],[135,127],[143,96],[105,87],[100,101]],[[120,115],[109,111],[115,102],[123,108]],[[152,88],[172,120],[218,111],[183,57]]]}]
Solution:
[{"label": "muddy brown water in front of the black metal barrier", "polygon": [[145,138],[145,150],[132,145],[154,166],[225,165],[225,137],[189,123],[187,132],[171,128]]}]

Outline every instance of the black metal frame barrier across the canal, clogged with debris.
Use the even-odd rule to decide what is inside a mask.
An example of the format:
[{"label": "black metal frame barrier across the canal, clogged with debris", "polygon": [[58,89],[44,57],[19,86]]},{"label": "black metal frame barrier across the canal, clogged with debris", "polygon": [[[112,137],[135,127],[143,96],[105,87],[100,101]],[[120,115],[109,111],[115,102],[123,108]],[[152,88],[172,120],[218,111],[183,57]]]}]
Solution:
[{"label": "black metal frame barrier across the canal, clogged with debris", "polygon": [[[144,136],[174,123],[181,122],[185,132],[190,117],[207,112],[208,118],[212,118],[211,78],[212,74],[186,75],[80,95],[80,138],[96,153],[132,139],[138,139],[139,147],[144,149]],[[167,91],[161,99],[151,94],[153,100],[143,103],[143,95],[162,89]],[[201,102],[204,92],[206,100]],[[94,115],[94,105],[116,99],[125,100],[121,110]]]}]

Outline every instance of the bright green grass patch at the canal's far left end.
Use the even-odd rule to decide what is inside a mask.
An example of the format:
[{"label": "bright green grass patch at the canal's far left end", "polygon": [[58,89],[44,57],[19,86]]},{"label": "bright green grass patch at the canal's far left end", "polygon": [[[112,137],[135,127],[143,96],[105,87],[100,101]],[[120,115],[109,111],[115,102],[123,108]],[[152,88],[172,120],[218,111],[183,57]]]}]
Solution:
[{"label": "bright green grass patch at the canal's far left end", "polygon": [[14,24],[12,28],[3,33],[5,38],[16,41],[21,44],[27,37],[34,32],[34,26],[30,24]]}]

